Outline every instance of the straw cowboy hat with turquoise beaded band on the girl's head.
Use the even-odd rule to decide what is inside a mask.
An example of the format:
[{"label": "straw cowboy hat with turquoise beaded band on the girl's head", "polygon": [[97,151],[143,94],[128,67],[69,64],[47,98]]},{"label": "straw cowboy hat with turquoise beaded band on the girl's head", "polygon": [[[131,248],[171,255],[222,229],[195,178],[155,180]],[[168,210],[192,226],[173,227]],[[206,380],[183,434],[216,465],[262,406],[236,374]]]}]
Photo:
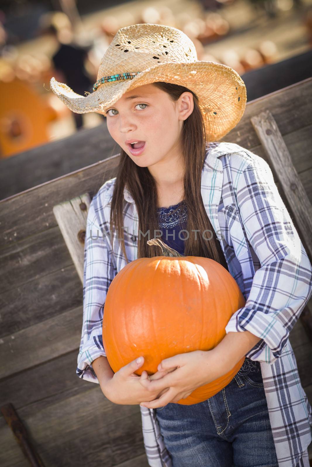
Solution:
[{"label": "straw cowboy hat with turquoise beaded band on the girl's head", "polygon": [[195,45],[186,34],[160,24],[119,29],[89,95],[81,96],[55,78],[50,86],[73,112],[105,113],[125,92],[156,81],[195,92],[209,141],[225,136],[245,111],[247,92],[239,74],[229,66],[197,60]]}]

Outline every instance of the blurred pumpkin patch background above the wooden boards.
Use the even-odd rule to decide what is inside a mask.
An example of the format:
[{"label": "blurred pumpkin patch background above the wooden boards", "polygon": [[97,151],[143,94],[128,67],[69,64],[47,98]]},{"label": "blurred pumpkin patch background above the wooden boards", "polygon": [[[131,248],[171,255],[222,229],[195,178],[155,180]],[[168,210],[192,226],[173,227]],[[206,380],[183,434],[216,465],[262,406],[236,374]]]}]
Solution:
[{"label": "blurred pumpkin patch background above the wooden boards", "polygon": [[[111,4],[1,1],[0,159],[106,124],[100,114],[71,112],[51,92],[49,81],[54,76],[81,95],[93,92],[110,41],[119,28],[131,24],[181,29],[195,43],[199,60],[226,64],[239,73],[248,101],[311,76],[312,0]],[[281,62],[283,66],[274,68]]]}]

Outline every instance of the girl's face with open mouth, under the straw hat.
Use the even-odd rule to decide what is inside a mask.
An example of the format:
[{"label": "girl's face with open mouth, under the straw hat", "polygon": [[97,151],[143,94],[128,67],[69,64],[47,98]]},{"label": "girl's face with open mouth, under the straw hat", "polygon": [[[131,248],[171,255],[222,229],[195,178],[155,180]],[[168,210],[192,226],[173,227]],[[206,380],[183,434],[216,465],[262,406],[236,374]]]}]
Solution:
[{"label": "girl's face with open mouth, under the straw hat", "polygon": [[[148,84],[138,86],[106,111],[109,134],[140,167],[181,156],[183,120],[193,112],[193,95],[183,92],[173,102],[167,92]],[[143,152],[131,154],[128,141],[145,142]]]}]

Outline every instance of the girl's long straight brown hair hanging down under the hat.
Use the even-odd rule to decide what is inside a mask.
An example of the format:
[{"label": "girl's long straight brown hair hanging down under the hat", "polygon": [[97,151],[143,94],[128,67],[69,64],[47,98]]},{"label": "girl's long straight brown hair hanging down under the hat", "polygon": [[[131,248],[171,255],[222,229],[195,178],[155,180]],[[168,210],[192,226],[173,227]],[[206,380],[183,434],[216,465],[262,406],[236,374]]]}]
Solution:
[{"label": "girl's long straight brown hair hanging down under the hat", "polygon": [[[179,99],[182,92],[192,92],[184,86],[173,83],[155,82],[153,85],[167,92],[174,102]],[[185,159],[184,201],[188,211],[186,230],[189,233],[189,238],[184,240],[184,255],[211,258],[228,270],[220,243],[203,205],[201,176],[206,151],[206,134],[203,116],[198,106],[198,98],[194,92],[192,94],[194,109],[189,117],[183,121],[181,133],[181,147]],[[121,241],[123,254],[128,262],[123,231],[123,209],[126,203],[123,190],[125,186],[130,191],[137,207],[138,232],[141,231],[145,234],[149,230],[150,238],[153,238],[152,233],[159,229],[155,180],[147,167],[139,167],[122,149],[111,200],[110,230],[112,232],[115,229],[118,232],[118,239],[122,239],[119,241]],[[210,233],[211,240],[208,240],[209,236],[207,239],[203,238],[202,233],[207,229],[212,232],[212,237]],[[182,235],[180,234],[180,236]],[[149,246],[147,240],[149,240],[148,235],[138,236],[138,258],[160,256],[160,248],[154,245]]]}]

